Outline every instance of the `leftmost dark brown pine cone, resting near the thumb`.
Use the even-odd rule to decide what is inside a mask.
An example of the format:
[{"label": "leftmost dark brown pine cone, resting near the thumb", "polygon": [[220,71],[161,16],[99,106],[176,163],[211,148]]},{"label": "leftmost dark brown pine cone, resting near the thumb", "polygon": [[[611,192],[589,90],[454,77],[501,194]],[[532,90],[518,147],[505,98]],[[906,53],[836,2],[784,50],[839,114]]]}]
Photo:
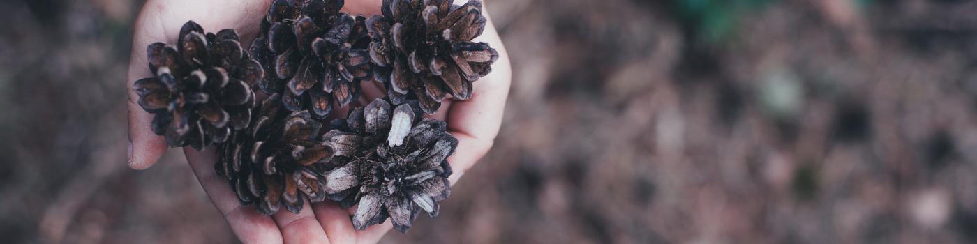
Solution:
[{"label": "leftmost dark brown pine cone, resting near the thumb", "polygon": [[204,34],[188,21],[177,45],[150,44],[149,70],[155,76],[133,85],[139,104],[155,115],[152,132],[165,135],[170,146],[201,149],[224,142],[232,129],[247,128],[255,103],[251,85],[264,71],[241,49],[237,33]]}]

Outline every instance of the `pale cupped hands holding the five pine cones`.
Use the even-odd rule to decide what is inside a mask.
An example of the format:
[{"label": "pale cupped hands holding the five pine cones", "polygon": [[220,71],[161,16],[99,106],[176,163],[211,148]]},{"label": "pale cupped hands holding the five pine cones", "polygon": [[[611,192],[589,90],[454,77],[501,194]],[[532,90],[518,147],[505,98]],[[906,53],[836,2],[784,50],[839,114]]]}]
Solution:
[{"label": "pale cupped hands holding the five pine cones", "polygon": [[[132,56],[126,90],[129,91],[129,166],[149,168],[166,151],[165,140],[149,129],[152,115],[137,103],[138,96],[131,89],[133,82],[149,77],[146,47],[152,42],[176,43],[180,27],[193,20],[204,30],[217,32],[234,28],[242,44],[250,45],[259,31],[259,23],[267,13],[271,0],[223,1],[149,0],[135,23]],[[343,11],[364,16],[379,14],[381,0],[347,0]],[[463,2],[463,1],[462,1]],[[457,4],[457,3],[456,3]],[[488,17],[488,14],[487,14]],[[511,70],[505,48],[489,18],[485,33],[476,41],[488,42],[499,52],[499,60],[492,72],[475,82],[475,92],[468,101],[445,101],[441,109],[429,117],[446,120],[448,130],[458,139],[455,154],[448,158],[454,170],[449,180],[456,183],[491,147],[498,134],[509,92]],[[246,48],[246,47],[245,47]],[[383,97],[382,87],[373,82],[363,83],[360,103]],[[333,114],[345,116],[347,109],[334,109]],[[242,207],[227,181],[216,175],[217,160],[213,146],[197,151],[184,149],[193,173],[203,186],[214,206],[224,215],[234,234],[244,243],[375,243],[392,228],[390,221],[355,230],[350,220],[355,208],[344,210],[330,201],[311,204],[299,214],[279,211],[263,216],[252,207]],[[310,206],[310,205],[307,205]]]}]

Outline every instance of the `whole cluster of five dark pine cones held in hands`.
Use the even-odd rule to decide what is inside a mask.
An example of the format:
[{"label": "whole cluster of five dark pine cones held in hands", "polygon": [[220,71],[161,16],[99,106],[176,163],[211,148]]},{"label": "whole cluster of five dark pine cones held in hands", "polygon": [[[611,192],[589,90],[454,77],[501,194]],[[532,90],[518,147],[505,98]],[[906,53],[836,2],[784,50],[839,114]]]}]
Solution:
[{"label": "whole cluster of five dark pine cones held in hands", "polygon": [[[486,26],[480,0],[384,0],[369,18],[342,7],[273,1],[247,50],[233,29],[189,21],[176,46],[149,45],[154,76],[133,89],[170,146],[218,148],[214,167],[241,204],[271,215],[328,199],[359,206],[358,229],[389,218],[405,232],[421,211],[438,214],[458,143],[422,116],[470,99],[498,53],[472,42]],[[387,96],[356,106],[364,82]],[[323,121],[347,106],[345,119]]]}]

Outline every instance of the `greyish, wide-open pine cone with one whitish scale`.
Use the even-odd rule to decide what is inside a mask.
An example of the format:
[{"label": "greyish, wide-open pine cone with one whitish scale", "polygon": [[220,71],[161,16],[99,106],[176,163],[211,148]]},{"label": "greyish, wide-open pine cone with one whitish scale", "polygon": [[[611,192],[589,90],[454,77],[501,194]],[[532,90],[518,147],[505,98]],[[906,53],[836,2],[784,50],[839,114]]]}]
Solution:
[{"label": "greyish, wide-open pine cone with one whitish scale", "polygon": [[339,167],[325,174],[325,192],[344,207],[359,204],[353,216],[357,229],[383,223],[387,217],[406,232],[421,210],[438,215],[438,201],[450,194],[447,156],[458,141],[446,133],[446,123],[420,119],[416,102],[391,109],[383,100],[333,121],[323,136],[335,150]]}]

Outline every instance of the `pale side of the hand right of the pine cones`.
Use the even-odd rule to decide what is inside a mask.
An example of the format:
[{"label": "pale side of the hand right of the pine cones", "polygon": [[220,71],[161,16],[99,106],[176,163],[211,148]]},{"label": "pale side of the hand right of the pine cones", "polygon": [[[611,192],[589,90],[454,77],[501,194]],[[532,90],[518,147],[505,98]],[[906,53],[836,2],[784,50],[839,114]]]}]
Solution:
[{"label": "pale side of the hand right of the pine cones", "polygon": [[490,18],[485,33],[476,38],[476,41],[488,42],[498,51],[499,58],[492,64],[492,72],[475,82],[472,99],[453,102],[447,113],[448,132],[458,139],[454,155],[448,158],[452,170],[455,171],[448,179],[451,183],[457,182],[491,148],[495,136],[498,135],[505,101],[509,96],[512,77],[509,57]]}]

